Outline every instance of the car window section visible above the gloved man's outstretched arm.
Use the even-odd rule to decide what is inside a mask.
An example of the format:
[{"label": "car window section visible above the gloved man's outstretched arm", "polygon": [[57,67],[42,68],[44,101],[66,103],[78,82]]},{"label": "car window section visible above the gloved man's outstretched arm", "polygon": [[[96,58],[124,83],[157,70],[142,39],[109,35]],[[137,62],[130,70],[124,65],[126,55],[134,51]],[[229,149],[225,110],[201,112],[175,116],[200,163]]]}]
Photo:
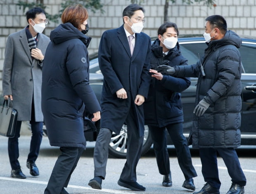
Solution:
[{"label": "car window section visible above the gloved man's outstretched arm", "polygon": [[203,56],[206,47],[205,43],[180,43],[181,54],[188,60],[189,65],[197,63],[199,60],[198,54],[200,57]]}]

